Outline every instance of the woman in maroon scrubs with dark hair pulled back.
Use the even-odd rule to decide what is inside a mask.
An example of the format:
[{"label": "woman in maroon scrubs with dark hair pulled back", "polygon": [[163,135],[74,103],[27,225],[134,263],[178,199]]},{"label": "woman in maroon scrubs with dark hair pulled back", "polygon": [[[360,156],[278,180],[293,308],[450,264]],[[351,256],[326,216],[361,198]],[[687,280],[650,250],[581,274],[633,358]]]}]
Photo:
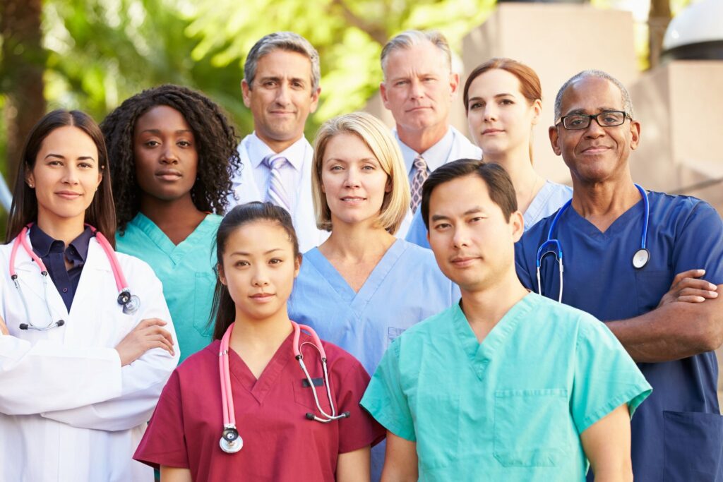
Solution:
[{"label": "woman in maroon scrubs with dark hair pulled back", "polygon": [[[369,481],[369,448],[383,434],[359,407],[369,375],[346,351],[322,342],[326,379],[313,337],[302,330],[294,340],[286,301],[301,254],[288,212],[260,202],[234,208],[218,229],[216,251],[214,341],[174,371],[134,458],[160,465],[164,482]],[[226,353],[221,339],[232,324]],[[228,405],[243,440],[235,453],[219,444],[227,421],[220,354],[222,363],[228,357]],[[326,418],[320,408],[348,416],[310,420]]]}]

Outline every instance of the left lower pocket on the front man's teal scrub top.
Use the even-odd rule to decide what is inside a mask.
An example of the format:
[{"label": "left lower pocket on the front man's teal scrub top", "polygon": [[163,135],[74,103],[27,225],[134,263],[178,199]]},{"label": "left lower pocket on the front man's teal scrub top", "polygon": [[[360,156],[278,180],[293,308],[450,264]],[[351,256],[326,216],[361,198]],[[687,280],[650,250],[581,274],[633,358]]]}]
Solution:
[{"label": "left lower pocket on the front man's teal scrub top", "polygon": [[[438,389],[439,387],[437,387]],[[424,470],[446,467],[462,456],[458,450],[459,394],[428,389],[416,394],[414,412],[417,452]]]}]

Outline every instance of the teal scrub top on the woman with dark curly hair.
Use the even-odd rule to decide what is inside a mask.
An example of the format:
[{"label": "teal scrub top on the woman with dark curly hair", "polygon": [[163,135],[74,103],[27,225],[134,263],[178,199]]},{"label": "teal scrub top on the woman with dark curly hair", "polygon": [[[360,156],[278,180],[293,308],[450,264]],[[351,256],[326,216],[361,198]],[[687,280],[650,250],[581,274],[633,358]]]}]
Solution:
[{"label": "teal scrub top on the woman with dark curly hair", "polygon": [[[213,324],[208,325],[208,317],[216,283],[216,231],[222,219],[207,215],[177,246],[140,212],[128,223],[123,236],[116,233],[116,250],[150,264],[163,283],[163,296],[179,340],[180,361],[211,342]],[[142,293],[140,296],[142,301]]]}]

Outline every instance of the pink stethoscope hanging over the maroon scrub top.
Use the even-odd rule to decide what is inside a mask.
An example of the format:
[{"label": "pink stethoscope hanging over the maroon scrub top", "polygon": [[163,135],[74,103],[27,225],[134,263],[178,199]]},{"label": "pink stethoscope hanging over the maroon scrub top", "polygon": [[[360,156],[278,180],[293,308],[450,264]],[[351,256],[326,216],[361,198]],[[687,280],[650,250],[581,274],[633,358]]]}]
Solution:
[{"label": "pink stethoscope hanging over the maroon scrub top", "polygon": [[[231,374],[228,371],[228,341],[231,340],[231,332],[234,331],[234,324],[235,323],[231,323],[231,326],[228,327],[226,333],[223,334],[223,338],[221,338],[221,350],[218,352],[218,369],[219,371],[221,371],[221,405],[223,409],[223,434],[221,434],[221,441],[219,442],[219,444],[221,445],[221,449],[223,450],[223,452],[226,452],[227,454],[234,454],[236,452],[239,452],[239,450],[241,450],[241,447],[244,447],[244,441],[243,439],[241,439],[238,429],[236,429],[234,397],[231,393]],[[299,361],[301,371],[304,371],[304,376],[307,377],[307,383],[309,384],[309,387],[311,387],[312,393],[314,394],[314,401],[316,402],[317,409],[319,409],[322,415],[322,417],[317,417],[314,413],[309,412],[306,414],[306,418],[308,420],[315,420],[321,423],[329,423],[331,421],[350,416],[351,414],[348,412],[342,412],[339,415],[336,415],[334,402],[331,397],[329,372],[326,367],[326,352],[324,351],[324,347],[321,344],[319,336],[314,330],[312,330],[311,327],[307,327],[307,325],[305,324],[291,322],[291,326],[294,327],[294,358]],[[299,336],[301,335],[301,330],[304,330],[308,332],[309,335],[311,335],[312,339],[314,340],[313,343],[304,342],[299,345]],[[321,356],[321,366],[324,370],[324,384],[326,386],[326,395],[329,398],[331,415],[326,413],[324,409],[321,408],[321,404],[319,403],[319,397],[314,388],[314,382],[312,380],[312,377],[309,376],[307,366],[304,365],[304,356],[301,355],[301,347],[304,345],[312,345],[314,348],[317,349]]]}]

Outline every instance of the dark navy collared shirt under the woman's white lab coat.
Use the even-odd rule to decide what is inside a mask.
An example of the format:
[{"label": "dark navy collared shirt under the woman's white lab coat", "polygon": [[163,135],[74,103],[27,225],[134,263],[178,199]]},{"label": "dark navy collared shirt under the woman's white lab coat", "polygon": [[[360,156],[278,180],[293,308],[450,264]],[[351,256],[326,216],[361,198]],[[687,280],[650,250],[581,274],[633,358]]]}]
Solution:
[{"label": "dark navy collared shirt under the woman's white lab coat", "polygon": [[[80,273],[88,254],[88,243],[92,237],[93,232],[90,228],[85,228],[85,231],[66,248],[63,241],[51,238],[38,228],[37,224],[33,224],[30,228],[30,244],[33,245],[33,251],[46,265],[50,279],[53,280],[68,311],[73,303],[75,290],[78,288]],[[69,270],[65,269],[63,257],[73,264]]]}]

